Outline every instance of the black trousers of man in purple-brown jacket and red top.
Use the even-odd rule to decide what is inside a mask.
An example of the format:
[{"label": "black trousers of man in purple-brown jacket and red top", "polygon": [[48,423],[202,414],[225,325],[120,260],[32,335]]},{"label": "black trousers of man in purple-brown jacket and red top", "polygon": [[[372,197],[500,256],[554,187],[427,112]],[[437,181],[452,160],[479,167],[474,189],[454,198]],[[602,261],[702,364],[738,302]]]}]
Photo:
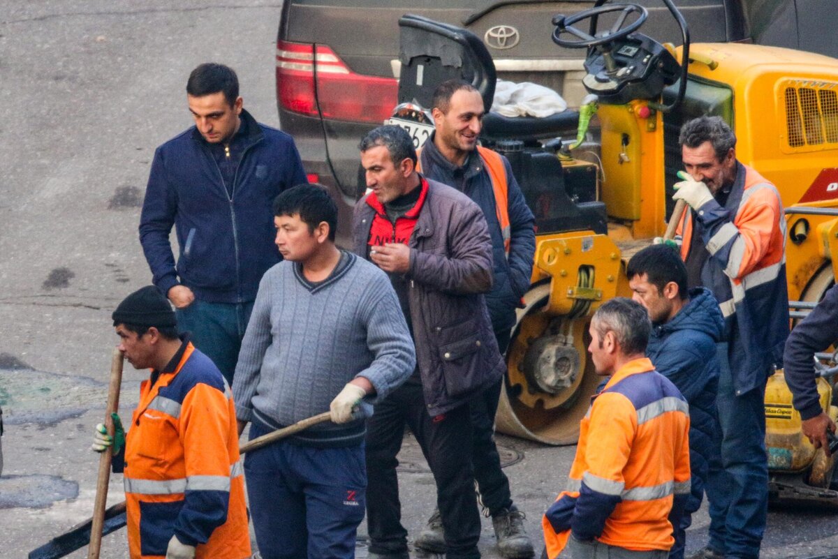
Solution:
[{"label": "black trousers of man in purple-brown jacket and red top", "polygon": [[405,423],[422,447],[434,480],[445,531],[447,559],[477,559],[480,514],[474,499],[472,428],[468,405],[432,418],[427,413],[422,384],[411,377],[375,406],[367,422],[367,529],[370,551],[407,551],[407,531],[401,526],[396,454]]}]

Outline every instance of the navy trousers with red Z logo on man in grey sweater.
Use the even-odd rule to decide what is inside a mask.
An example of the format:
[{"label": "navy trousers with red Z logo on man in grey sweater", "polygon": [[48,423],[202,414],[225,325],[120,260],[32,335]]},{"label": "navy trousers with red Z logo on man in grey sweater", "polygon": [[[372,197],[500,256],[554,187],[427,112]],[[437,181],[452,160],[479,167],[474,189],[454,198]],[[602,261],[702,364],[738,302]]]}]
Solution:
[{"label": "navy trousers with red Z logo on man in grey sweater", "polygon": [[[251,424],[250,438],[268,432]],[[247,497],[263,559],[354,559],[364,520],[364,445],[315,449],[285,441],[247,453]]]}]

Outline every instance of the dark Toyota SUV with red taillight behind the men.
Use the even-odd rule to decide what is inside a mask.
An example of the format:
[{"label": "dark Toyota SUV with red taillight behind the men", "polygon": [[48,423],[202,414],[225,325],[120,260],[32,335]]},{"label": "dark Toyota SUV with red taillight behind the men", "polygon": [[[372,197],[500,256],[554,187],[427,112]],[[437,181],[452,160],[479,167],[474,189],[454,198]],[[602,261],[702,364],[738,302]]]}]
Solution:
[{"label": "dark Toyota SUV with red taillight behind the men", "polygon": [[[649,10],[645,33],[680,44],[680,31],[660,0],[634,0]],[[800,2],[809,0],[798,0]],[[800,46],[773,29],[789,23],[788,0],[675,0],[691,40],[747,40],[751,4],[772,44]],[[282,130],[297,142],[309,180],[330,188],[340,208],[339,241],[347,245],[351,208],[363,191],[361,136],[389,118],[399,72],[398,19],[415,13],[467,28],[489,47],[501,79],[532,81],[572,106],[584,96],[584,51],[553,44],[551,18],[593,2],[545,0],[286,0],[277,38],[277,105]],[[755,8],[754,8],[755,9]],[[794,7],[791,13],[796,18]],[[786,14],[784,16],[784,14]],[[796,20],[795,20],[796,21]],[[796,24],[794,41],[797,41]],[[773,33],[773,35],[772,35]],[[787,33],[788,34],[788,33]]]}]

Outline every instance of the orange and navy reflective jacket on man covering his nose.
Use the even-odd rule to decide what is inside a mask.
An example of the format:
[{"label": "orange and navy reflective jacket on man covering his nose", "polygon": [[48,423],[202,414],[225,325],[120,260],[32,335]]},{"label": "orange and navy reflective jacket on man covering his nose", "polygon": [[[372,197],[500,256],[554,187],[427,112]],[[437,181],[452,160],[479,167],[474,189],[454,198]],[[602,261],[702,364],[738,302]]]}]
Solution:
[{"label": "orange and navy reflective jacket on man covering his nose", "polygon": [[786,222],[777,189],[751,167],[737,162],[737,178],[724,207],[715,199],[685,212],[677,233],[686,259],[693,219],[710,257],[701,283],[713,292],[725,317],[728,355],[737,394],[765,382],[783,360],[789,336],[785,273]]}]

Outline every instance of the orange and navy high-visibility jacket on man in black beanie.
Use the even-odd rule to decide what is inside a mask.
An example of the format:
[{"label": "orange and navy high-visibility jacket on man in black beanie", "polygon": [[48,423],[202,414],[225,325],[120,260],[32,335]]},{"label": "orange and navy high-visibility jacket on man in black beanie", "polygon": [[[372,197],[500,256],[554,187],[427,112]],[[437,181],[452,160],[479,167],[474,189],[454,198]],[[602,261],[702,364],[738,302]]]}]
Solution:
[{"label": "orange and navy high-visibility jacket on man in black beanie", "polygon": [[191,343],[142,382],[123,474],[132,559],[163,559],[173,534],[197,559],[251,556],[233,397]]}]

